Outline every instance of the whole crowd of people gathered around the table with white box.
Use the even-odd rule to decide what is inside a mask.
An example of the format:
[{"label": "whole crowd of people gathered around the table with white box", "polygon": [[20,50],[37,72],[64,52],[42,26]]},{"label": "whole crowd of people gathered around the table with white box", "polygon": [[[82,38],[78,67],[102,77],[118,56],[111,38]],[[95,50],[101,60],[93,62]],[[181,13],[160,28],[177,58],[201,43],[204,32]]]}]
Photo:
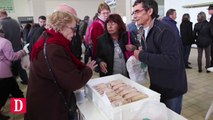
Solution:
[{"label": "whole crowd of people gathered around the table with white box", "polygon": [[[133,21],[128,25],[106,3],[98,6],[93,20],[89,16],[80,20],[75,9],[60,4],[48,18],[39,16],[38,23],[26,24],[21,30],[16,20],[0,10],[0,109],[10,94],[24,97],[16,81],[20,76],[21,83],[28,85],[25,120],[77,120],[74,91],[90,80],[93,71],[100,77],[129,77],[129,52],[148,66],[150,89],[180,114],[187,92],[185,69],[192,69],[192,44],[197,45],[198,72],[203,70],[203,51],[206,72],[213,67],[213,5],[208,12],[210,21],[200,12],[194,29],[190,15],[183,14],[178,29],[176,10],[169,9],[159,19],[155,0],[136,0]],[[21,67],[20,58],[26,54],[30,55],[29,77]],[[0,112],[1,120],[9,118]]]}]

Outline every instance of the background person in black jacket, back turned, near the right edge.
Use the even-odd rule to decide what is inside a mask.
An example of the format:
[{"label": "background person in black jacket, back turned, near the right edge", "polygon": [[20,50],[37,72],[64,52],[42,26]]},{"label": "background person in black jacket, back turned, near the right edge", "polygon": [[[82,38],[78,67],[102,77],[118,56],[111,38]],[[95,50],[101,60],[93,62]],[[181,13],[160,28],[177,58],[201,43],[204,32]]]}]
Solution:
[{"label": "background person in black jacket, back turned, near the right edge", "polygon": [[[198,50],[198,72],[202,72],[202,56],[203,50],[205,51],[206,57],[206,66],[207,69],[210,67],[210,52],[211,52],[211,44],[212,44],[212,36],[211,36],[211,23],[206,20],[206,14],[204,12],[200,12],[197,15],[197,23],[194,26],[194,36],[196,39],[196,45]],[[209,73],[208,70],[206,70]]]}]

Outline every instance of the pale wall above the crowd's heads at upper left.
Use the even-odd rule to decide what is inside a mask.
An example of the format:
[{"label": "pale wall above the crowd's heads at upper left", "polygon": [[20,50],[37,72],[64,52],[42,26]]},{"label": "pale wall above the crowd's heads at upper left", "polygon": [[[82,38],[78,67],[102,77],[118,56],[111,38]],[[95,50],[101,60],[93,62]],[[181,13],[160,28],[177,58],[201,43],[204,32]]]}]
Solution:
[{"label": "pale wall above the crowd's heads at upper left", "polygon": [[[125,1],[116,1],[117,5],[111,9],[112,13],[125,16]],[[21,16],[34,16],[36,22],[38,16],[48,16],[54,11],[57,5],[66,3],[76,9],[79,18],[83,19],[85,15],[89,15],[92,18],[101,2],[104,2],[104,0],[14,0],[15,13],[9,13],[9,16],[15,19]]]}]

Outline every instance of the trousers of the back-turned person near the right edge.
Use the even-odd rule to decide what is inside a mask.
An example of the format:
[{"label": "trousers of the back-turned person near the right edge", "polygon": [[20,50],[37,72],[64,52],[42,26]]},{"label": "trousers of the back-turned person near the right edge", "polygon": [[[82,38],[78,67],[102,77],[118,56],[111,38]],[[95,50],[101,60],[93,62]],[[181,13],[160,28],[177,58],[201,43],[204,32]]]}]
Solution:
[{"label": "trousers of the back-turned person near the right edge", "polygon": [[205,68],[210,67],[210,50],[211,50],[211,46],[209,45],[206,48],[198,47],[197,49],[198,49],[198,57],[197,57],[198,69],[202,70],[203,50],[205,51],[205,57],[206,57],[206,66],[205,66]]}]

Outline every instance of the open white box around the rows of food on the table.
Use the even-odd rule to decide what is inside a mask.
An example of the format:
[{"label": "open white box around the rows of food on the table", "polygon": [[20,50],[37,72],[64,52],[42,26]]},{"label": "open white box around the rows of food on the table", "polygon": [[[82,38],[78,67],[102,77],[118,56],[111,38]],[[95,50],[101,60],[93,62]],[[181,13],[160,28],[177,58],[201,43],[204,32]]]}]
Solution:
[{"label": "open white box around the rows of food on the table", "polygon": [[[108,102],[105,102],[103,97],[93,88],[93,86],[100,83],[108,83],[113,80],[122,80],[124,83],[135,87],[138,91],[148,95],[148,98],[144,98],[135,102],[131,102],[125,105],[113,107]],[[91,79],[85,88],[87,97],[102,111],[110,120],[131,120],[137,114],[137,112],[143,107],[143,103],[149,100],[160,102],[160,94],[152,91],[123,75],[116,74],[107,77],[101,77]]]}]

